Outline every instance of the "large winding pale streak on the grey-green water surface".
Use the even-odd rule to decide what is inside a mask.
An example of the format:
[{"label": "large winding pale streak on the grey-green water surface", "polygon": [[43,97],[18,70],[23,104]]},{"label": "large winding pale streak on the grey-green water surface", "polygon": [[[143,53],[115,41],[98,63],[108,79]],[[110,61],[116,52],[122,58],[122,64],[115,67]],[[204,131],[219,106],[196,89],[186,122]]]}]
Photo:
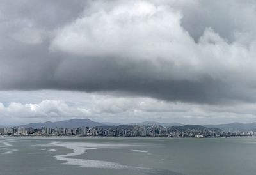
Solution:
[{"label": "large winding pale streak on the grey-green water surface", "polygon": [[[52,142],[50,144],[37,144],[34,146],[61,146],[63,148],[72,149],[72,153],[67,153],[65,155],[55,155],[56,160],[60,160],[63,165],[78,165],[79,167],[88,167],[88,168],[99,168],[99,169],[131,169],[132,171],[145,172],[147,174],[175,174],[179,173],[162,170],[162,169],[152,169],[147,167],[136,167],[129,165],[122,165],[117,162],[109,162],[103,160],[90,160],[90,159],[80,159],[72,158],[72,156],[83,155],[86,151],[95,150],[99,148],[131,148],[131,147],[144,147],[149,144],[113,144],[113,143],[86,143],[86,142]],[[51,149],[50,149],[51,150]],[[130,149],[131,151],[148,153],[148,151],[140,149]],[[179,174],[180,175],[180,174]]]}]

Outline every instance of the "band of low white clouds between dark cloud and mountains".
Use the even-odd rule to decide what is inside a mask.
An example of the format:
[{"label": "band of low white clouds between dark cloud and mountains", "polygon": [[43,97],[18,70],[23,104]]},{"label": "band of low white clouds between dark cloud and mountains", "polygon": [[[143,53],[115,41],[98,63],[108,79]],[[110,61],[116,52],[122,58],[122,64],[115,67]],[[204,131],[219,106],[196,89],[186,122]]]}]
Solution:
[{"label": "band of low white clouds between dark cloud and mountains", "polygon": [[[36,92],[35,97],[40,95]],[[103,94],[52,92],[49,98],[66,95],[63,100],[42,100],[38,103],[0,103],[1,124],[15,125],[38,121],[60,121],[90,118],[100,122],[133,123],[136,121],[180,122],[193,124],[250,122],[256,118],[255,104],[196,105],[173,103],[154,98],[115,97]],[[24,96],[27,96],[24,94]],[[32,92],[33,96],[33,92]],[[77,103],[70,100],[76,98]],[[64,100],[65,99],[65,100]]]}]

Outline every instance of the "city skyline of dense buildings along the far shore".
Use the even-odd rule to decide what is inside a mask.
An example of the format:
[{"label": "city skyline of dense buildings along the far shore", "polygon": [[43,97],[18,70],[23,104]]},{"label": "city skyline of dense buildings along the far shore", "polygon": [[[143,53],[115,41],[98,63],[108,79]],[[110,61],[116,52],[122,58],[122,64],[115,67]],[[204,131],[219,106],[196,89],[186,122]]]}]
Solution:
[{"label": "city skyline of dense buildings along the far shore", "polygon": [[251,128],[223,129],[201,125],[98,125],[98,126],[17,126],[0,127],[0,136],[93,136],[93,137],[239,137],[256,136],[256,125]]}]

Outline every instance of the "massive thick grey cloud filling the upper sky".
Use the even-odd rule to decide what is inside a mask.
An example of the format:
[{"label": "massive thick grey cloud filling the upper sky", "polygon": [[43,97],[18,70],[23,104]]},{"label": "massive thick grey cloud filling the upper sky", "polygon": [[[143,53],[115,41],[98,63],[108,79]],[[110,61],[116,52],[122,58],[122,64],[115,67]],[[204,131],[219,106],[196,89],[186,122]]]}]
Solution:
[{"label": "massive thick grey cloud filling the upper sky", "polygon": [[0,89],[254,103],[255,17],[254,1],[1,1]]}]

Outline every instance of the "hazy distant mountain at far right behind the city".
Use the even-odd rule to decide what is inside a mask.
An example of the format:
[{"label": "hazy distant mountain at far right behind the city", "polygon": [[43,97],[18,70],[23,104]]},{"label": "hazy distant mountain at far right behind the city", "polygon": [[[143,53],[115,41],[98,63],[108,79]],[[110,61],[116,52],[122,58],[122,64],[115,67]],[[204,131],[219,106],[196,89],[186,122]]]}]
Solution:
[{"label": "hazy distant mountain at far right behind the city", "polygon": [[220,125],[204,125],[205,127],[220,128],[225,132],[256,130],[256,123],[227,123]]}]

